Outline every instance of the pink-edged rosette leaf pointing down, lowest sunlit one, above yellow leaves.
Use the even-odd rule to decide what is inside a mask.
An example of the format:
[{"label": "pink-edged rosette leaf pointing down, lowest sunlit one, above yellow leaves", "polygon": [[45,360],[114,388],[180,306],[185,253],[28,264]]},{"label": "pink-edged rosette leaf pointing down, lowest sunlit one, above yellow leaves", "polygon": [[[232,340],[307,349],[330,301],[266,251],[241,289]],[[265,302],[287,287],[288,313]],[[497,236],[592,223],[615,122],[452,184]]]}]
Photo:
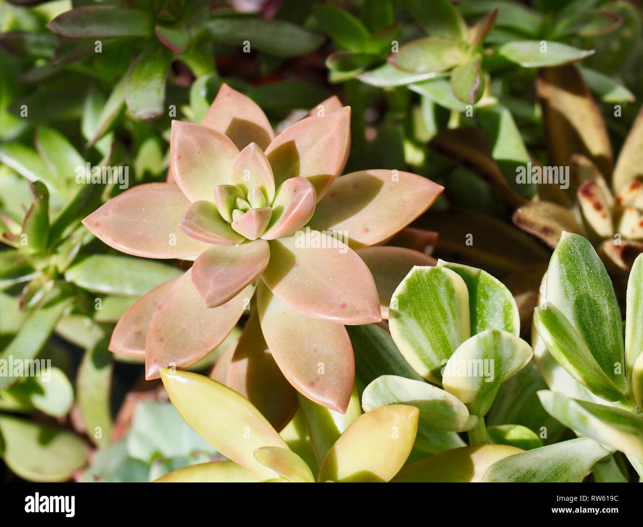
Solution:
[{"label": "pink-edged rosette leaf pointing down, lowest sunlit one, above yellow leaves", "polygon": [[346,328],[300,315],[262,283],[257,309],[264,338],[288,382],[311,401],[344,413],[355,378]]}]

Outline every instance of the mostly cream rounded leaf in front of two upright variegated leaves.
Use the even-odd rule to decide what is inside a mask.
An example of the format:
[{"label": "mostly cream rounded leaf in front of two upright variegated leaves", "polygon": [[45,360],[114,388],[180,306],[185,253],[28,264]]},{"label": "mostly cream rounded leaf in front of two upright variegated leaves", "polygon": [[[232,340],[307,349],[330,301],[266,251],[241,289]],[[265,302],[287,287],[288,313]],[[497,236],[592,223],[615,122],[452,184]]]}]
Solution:
[{"label": "mostly cream rounded leaf in front of two upright variegated leaves", "polygon": [[[444,367],[442,385],[477,415],[500,384],[532,358],[531,346],[506,331],[487,329],[463,342]],[[488,409],[488,407],[487,407]]]}]

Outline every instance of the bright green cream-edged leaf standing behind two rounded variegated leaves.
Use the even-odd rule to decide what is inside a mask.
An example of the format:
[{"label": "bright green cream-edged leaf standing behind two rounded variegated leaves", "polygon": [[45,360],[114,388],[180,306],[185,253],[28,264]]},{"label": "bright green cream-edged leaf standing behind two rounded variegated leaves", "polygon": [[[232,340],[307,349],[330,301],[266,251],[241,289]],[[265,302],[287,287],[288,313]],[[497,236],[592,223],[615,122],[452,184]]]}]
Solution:
[{"label": "bright green cream-edged leaf standing behind two rounded variegated leaves", "polygon": [[500,329],[520,335],[520,315],[516,300],[496,277],[468,265],[439,260],[437,265],[458,273],[469,291],[471,335],[485,329]]}]

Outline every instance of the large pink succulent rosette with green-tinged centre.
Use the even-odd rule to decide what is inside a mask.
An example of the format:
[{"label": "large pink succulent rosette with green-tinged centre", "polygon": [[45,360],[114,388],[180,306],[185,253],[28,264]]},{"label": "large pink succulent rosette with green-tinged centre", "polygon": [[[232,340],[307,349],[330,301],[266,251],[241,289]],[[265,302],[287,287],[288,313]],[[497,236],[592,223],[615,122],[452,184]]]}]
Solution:
[{"label": "large pink succulent rosette with green-tinged centre", "polygon": [[[121,252],[194,261],[131,306],[111,351],[144,355],[148,379],[160,367],[188,367],[223,342],[257,292],[235,355],[269,349],[276,374],[344,412],[354,382],[344,325],[386,317],[399,282],[388,268],[431,263],[409,249],[369,246],[406,227],[442,191],[397,170],[338,177],[349,144],[350,107],[336,97],[276,137],[260,107],[226,84],[203,124],[173,121],[176,184],[133,187],[83,220]],[[232,356],[221,361],[230,369]],[[228,378],[239,367],[248,374],[237,365]]]}]

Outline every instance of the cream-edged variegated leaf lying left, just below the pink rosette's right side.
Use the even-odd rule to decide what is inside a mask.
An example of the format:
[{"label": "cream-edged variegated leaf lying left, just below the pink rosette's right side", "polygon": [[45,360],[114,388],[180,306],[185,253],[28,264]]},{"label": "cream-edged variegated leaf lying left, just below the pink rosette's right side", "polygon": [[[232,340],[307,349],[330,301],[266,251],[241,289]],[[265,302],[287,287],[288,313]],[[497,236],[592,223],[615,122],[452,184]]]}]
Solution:
[{"label": "cream-edged variegated leaf lying left, just below the pink rosette's right side", "polygon": [[362,394],[365,412],[390,404],[406,404],[420,411],[419,423],[440,430],[466,430],[467,407],[450,393],[428,384],[397,375],[382,375]]}]

